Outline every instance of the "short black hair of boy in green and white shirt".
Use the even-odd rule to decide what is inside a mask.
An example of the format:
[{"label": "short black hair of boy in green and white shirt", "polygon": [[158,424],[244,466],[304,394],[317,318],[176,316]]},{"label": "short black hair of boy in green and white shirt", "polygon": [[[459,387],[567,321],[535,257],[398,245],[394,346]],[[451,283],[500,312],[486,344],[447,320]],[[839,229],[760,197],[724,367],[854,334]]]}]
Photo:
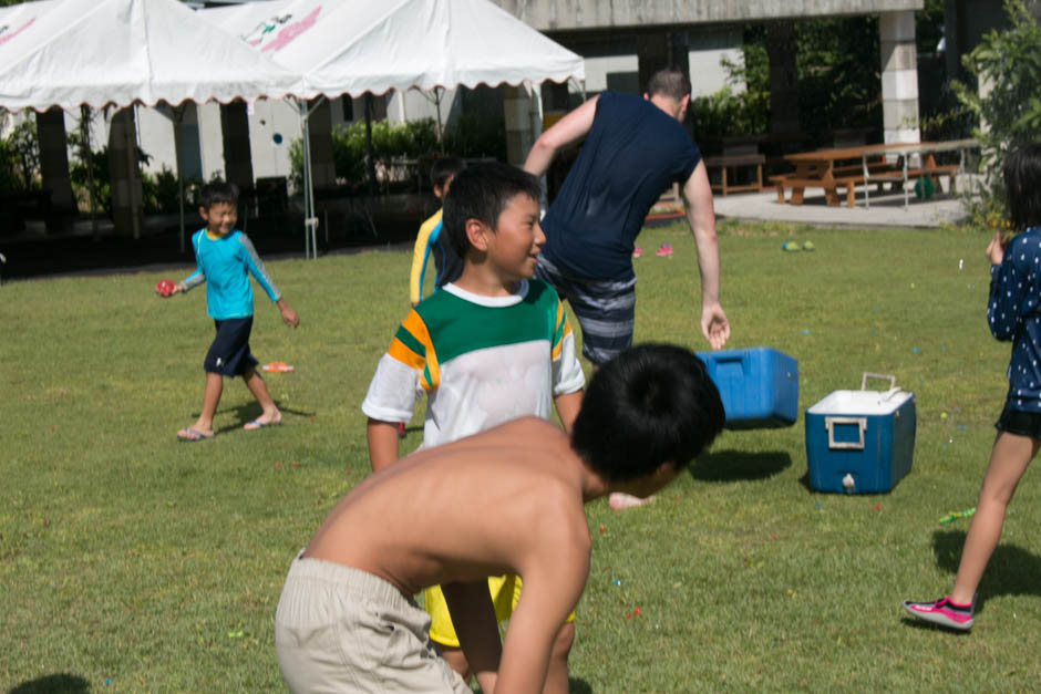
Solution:
[{"label": "short black hair of boy in green and white shirt", "polygon": [[542,195],[538,178],[509,164],[477,164],[456,175],[449,195],[444,197],[442,222],[443,231],[460,258],[465,259],[470,250],[466,221],[483,221],[495,231],[498,216],[506,205],[515,195],[522,194],[537,201]]}]

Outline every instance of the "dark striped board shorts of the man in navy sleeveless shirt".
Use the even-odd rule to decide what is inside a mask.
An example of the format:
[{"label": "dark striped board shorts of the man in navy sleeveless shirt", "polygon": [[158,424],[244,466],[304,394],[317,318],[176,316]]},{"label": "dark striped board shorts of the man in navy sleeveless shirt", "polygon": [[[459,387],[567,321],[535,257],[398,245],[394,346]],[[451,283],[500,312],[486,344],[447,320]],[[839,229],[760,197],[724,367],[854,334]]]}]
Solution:
[{"label": "dark striped board shorts of the man in navy sleeveless shirt", "polygon": [[586,280],[567,277],[555,265],[538,257],[535,277],[553,284],[581,328],[581,353],[601,365],[632,345],[636,315],[636,278],[625,281]]}]

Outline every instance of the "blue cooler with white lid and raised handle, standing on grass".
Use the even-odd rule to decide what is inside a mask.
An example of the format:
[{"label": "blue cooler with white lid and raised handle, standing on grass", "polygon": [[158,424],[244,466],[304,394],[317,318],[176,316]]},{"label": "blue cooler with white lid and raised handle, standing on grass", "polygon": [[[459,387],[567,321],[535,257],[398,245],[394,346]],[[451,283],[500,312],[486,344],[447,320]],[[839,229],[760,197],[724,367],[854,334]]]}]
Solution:
[{"label": "blue cooler with white lid and raised handle, standing on grass", "polygon": [[[888,391],[867,391],[870,376]],[[806,410],[810,486],[837,494],[889,491],[910,470],[915,453],[915,394],[893,376],[864,374],[859,391],[834,391]]]}]

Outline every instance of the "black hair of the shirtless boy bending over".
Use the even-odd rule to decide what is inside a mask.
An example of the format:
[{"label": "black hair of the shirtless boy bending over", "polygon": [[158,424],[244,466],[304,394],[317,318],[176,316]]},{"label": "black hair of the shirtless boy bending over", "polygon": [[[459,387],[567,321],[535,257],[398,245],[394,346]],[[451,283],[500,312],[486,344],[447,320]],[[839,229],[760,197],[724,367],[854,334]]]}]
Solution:
[{"label": "black hair of the shirtless boy bending over", "polygon": [[689,350],[642,344],[601,366],[571,429],[571,448],[605,479],[625,483],[662,463],[687,467],[722,431],[723,403]]}]

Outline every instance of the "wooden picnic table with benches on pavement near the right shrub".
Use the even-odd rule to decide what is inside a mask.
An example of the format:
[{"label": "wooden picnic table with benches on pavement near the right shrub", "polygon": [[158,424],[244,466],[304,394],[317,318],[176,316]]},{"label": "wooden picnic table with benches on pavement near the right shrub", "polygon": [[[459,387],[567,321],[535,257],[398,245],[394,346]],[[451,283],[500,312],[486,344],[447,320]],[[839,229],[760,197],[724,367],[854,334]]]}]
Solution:
[{"label": "wooden picnic table with benches on pavement near the right shrub", "polygon": [[[792,191],[791,204],[802,205],[803,193],[806,188],[823,188],[824,198],[828,205],[839,203],[838,189],[845,188],[846,205],[856,204],[855,186],[862,184],[884,182],[899,183],[904,187],[904,205],[909,201],[907,183],[911,178],[928,177],[936,183],[936,177],[949,175],[954,177],[963,169],[965,152],[978,147],[975,139],[956,139],[950,142],[921,142],[921,143],[891,143],[885,145],[862,145],[856,147],[834,147],[787,154],[785,160],[795,165],[795,172],[782,176],[772,176],[771,180],[777,186],[777,201],[784,203],[784,189]],[[959,164],[937,164],[936,153],[961,153]],[[888,156],[898,156],[900,163],[890,163]],[[917,166],[910,166],[911,156],[921,157]],[[865,204],[870,200],[865,186]]]}]

